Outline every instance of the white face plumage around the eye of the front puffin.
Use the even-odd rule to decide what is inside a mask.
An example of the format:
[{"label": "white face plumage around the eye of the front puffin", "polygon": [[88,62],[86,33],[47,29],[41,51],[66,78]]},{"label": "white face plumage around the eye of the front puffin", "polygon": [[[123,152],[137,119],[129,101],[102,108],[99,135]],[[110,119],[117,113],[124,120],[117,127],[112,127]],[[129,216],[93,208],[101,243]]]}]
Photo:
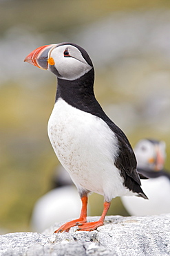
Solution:
[{"label": "white face plumage around the eye of the front puffin", "polygon": [[[69,56],[65,56],[65,51],[68,51]],[[92,69],[84,59],[81,51],[70,44],[54,46],[49,54],[48,59],[52,57],[56,71],[60,74],[61,79],[76,80]],[[50,70],[50,65],[48,67]]]}]

